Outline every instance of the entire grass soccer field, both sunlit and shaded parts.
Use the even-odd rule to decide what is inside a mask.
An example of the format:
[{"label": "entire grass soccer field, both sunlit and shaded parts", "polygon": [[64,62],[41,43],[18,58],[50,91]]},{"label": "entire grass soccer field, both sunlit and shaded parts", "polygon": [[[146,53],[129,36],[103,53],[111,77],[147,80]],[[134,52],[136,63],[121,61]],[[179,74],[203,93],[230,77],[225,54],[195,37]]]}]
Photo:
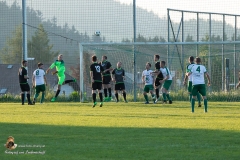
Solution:
[{"label": "entire grass soccer field, both sunlit and shaded parts", "polygon": [[0,159],[240,159],[239,103],[91,105],[1,103]]}]

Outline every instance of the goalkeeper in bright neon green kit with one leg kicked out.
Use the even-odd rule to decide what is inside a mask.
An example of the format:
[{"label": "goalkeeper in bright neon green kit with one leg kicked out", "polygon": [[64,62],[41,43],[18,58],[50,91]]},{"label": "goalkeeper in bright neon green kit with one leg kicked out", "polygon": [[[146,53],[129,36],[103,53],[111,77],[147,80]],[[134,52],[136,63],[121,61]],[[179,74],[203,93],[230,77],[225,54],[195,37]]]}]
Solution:
[{"label": "goalkeeper in bright neon green kit with one leg kicked out", "polygon": [[66,84],[66,83],[70,83],[70,82],[76,82],[75,79],[73,80],[66,80],[65,81],[65,64],[63,61],[63,55],[60,54],[58,56],[58,59],[52,63],[52,65],[47,69],[46,73],[48,74],[50,69],[53,69],[54,67],[56,67],[56,71],[52,72],[52,75],[56,74],[58,76],[58,88],[57,88],[57,92],[55,94],[55,97],[53,97],[51,99],[51,102],[55,102],[57,96],[59,95],[60,91],[61,91],[61,86]]}]

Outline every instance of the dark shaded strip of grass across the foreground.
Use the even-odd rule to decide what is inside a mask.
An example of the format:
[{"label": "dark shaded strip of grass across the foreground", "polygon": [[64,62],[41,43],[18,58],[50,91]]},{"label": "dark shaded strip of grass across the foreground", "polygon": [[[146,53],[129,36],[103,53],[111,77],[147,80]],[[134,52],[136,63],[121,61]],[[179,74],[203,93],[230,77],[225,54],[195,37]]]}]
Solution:
[{"label": "dark shaded strip of grass across the foreground", "polygon": [[[0,159],[125,160],[239,159],[240,157],[240,134],[231,131],[15,123],[0,123],[0,131],[2,146]],[[33,152],[12,155],[4,148],[8,136],[13,136],[19,146],[12,152],[45,151],[45,154]],[[33,147],[33,145],[42,147]]]}]

